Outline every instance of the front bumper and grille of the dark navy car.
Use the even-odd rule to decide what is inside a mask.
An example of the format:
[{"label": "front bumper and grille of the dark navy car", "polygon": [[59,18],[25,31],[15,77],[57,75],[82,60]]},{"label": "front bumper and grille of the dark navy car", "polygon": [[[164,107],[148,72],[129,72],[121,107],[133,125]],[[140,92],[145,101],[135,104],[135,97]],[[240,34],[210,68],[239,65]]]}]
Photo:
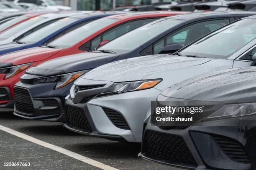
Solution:
[{"label": "front bumper and grille of the dark navy car", "polygon": [[65,122],[64,100],[69,87],[54,90],[55,83],[23,84],[14,86],[13,114],[26,119]]}]

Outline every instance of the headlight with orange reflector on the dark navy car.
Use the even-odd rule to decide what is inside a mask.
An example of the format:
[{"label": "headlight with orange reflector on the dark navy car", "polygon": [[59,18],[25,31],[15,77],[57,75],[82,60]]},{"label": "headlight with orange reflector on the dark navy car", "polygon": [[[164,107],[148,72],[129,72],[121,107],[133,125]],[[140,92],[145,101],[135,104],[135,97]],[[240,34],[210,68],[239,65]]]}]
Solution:
[{"label": "headlight with orange reflector on the dark navy car", "polygon": [[78,77],[88,72],[89,70],[84,70],[80,72],[73,72],[64,75],[56,75],[51,77],[37,78],[34,80],[34,83],[42,83],[42,82],[56,82],[55,89],[59,89],[65,85],[76,80]]}]

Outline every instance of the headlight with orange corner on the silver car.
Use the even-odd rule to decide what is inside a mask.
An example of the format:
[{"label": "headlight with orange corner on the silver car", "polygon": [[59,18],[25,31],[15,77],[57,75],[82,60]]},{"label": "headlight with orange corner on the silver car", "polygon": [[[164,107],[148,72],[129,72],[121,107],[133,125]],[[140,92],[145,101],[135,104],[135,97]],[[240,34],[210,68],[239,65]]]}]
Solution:
[{"label": "headlight with orange corner on the silver car", "polygon": [[108,87],[107,90],[103,91],[98,96],[113,95],[113,94],[118,94],[122,92],[131,92],[131,91],[137,91],[137,90],[145,90],[145,89],[154,87],[161,81],[162,79],[141,80],[141,81],[135,81],[135,82],[118,82]]}]

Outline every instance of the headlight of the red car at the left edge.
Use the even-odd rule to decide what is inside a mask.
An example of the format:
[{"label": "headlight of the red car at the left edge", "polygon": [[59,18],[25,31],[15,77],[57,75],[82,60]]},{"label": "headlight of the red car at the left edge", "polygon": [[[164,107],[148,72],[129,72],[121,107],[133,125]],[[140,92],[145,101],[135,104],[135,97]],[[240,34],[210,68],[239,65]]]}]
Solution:
[{"label": "headlight of the red car at the left edge", "polygon": [[8,78],[13,77],[13,76],[17,75],[18,73],[22,72],[23,70],[25,70],[32,64],[33,63],[28,63],[28,64],[23,64],[23,65],[15,65],[12,67],[2,68],[2,69],[0,69],[0,74],[6,74],[5,79],[8,79]]}]

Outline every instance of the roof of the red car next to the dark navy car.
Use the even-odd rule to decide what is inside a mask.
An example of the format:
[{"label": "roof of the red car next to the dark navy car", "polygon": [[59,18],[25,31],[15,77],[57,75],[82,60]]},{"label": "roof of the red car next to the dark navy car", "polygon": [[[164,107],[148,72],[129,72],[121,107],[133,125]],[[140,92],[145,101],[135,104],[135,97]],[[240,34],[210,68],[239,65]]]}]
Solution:
[{"label": "roof of the red car next to the dark navy car", "polygon": [[184,11],[145,11],[145,12],[134,12],[134,13],[125,13],[119,15],[112,15],[108,18],[116,18],[116,19],[127,19],[127,18],[143,18],[143,17],[158,17],[159,15],[167,16],[167,15],[181,15],[190,12]]}]

